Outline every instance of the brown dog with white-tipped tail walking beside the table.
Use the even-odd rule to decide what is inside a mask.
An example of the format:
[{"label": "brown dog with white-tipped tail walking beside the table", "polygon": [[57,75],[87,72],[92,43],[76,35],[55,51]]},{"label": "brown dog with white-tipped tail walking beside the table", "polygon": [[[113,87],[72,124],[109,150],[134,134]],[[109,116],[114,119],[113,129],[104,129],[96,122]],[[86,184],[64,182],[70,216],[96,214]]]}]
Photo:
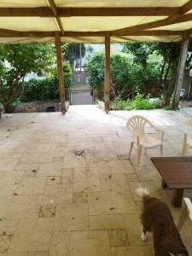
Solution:
[{"label": "brown dog with white-tipped tail walking beside the table", "polygon": [[153,232],[154,256],[189,256],[165,202],[152,197],[147,188],[139,186],[137,195],[143,197],[142,239],[147,241],[147,232]]}]

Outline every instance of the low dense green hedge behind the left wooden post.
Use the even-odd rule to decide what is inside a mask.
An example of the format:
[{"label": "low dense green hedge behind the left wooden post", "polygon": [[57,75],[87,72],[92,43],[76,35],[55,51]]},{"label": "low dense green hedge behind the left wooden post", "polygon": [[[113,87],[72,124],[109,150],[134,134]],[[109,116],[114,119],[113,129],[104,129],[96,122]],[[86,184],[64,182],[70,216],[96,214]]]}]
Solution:
[{"label": "low dense green hedge behind the left wooden post", "polygon": [[[63,63],[65,93],[68,96],[68,90],[72,84],[72,70],[67,62]],[[21,102],[47,101],[59,99],[59,80],[57,73],[45,79],[30,79],[25,82],[20,91]]]}]

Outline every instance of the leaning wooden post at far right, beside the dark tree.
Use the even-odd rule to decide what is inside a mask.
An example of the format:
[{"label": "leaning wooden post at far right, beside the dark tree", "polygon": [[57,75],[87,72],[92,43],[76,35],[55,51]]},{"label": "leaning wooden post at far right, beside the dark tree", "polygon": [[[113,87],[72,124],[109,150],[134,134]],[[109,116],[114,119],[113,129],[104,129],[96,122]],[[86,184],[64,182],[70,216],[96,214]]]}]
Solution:
[{"label": "leaning wooden post at far right, beside the dark tree", "polygon": [[172,102],[172,109],[177,109],[180,99],[180,92],[183,84],[184,67],[187,59],[189,47],[189,38],[186,38],[182,42],[182,48],[179,56],[178,67],[177,67],[177,79],[175,84],[175,93]]}]

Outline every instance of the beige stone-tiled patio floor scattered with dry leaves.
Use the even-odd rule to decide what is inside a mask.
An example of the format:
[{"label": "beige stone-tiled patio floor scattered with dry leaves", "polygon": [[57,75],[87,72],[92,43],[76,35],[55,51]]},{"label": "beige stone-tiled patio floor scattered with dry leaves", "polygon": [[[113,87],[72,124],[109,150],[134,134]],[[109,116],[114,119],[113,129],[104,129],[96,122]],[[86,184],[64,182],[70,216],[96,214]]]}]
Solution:
[{"label": "beige stone-tiled patio floor scattered with dry leaves", "polygon": [[[71,106],[61,113],[17,113],[0,119],[0,256],[150,256],[140,239],[137,184],[170,205],[148,150],[136,172],[127,160],[128,117],[142,113],[165,134],[165,156],[177,156],[191,109],[116,111]],[[192,191],[185,195],[192,199]],[[180,209],[171,206],[177,222]],[[192,255],[192,225],[182,231]]]}]

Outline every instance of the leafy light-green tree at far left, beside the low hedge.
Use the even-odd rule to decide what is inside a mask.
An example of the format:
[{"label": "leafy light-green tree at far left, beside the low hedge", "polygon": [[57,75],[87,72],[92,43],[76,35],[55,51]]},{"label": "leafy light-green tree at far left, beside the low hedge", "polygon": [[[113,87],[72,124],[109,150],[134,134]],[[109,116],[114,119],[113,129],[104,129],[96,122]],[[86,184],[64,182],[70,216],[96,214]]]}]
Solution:
[{"label": "leafy light-green tree at far left, beside the low hedge", "polygon": [[52,44],[0,45],[0,99],[5,112],[22,89],[27,73],[42,73],[53,67]]}]

